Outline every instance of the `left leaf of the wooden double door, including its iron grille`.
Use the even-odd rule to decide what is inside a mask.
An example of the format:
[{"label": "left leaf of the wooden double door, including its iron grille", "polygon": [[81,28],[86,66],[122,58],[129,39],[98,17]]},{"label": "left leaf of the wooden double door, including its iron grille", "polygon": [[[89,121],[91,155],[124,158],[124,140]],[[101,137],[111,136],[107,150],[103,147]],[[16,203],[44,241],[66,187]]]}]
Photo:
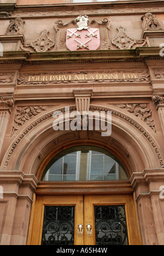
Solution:
[{"label": "left leaf of the wooden double door, including its iron grille", "polygon": [[31,245],[84,245],[79,224],[84,226],[83,196],[37,196]]}]

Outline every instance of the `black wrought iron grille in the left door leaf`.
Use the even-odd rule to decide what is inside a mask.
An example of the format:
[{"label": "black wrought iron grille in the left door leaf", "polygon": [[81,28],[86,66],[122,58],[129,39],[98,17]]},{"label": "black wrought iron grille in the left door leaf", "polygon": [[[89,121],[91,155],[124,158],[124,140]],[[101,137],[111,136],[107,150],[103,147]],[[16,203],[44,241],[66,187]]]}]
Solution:
[{"label": "black wrought iron grille in the left door leaf", "polygon": [[42,245],[74,245],[75,206],[45,206]]}]

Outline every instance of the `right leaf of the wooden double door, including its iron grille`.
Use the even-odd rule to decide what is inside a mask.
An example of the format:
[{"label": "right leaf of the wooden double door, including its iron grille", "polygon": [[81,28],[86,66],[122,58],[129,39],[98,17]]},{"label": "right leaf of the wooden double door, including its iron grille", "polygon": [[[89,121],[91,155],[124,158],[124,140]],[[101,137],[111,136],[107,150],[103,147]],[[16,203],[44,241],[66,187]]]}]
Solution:
[{"label": "right leaf of the wooden double door, including its iron grille", "polygon": [[[107,206],[108,210],[102,212],[102,218],[99,214],[96,222],[95,217],[97,218],[97,216],[95,216],[95,209],[97,206],[99,206],[99,209],[102,209],[103,206]],[[87,211],[87,208],[89,208],[89,211]],[[113,212],[111,215],[110,211],[112,209],[113,211],[120,211],[120,213]],[[107,211],[108,217],[105,216],[107,215]],[[98,237],[101,238],[99,243],[102,242],[104,245],[111,245],[112,243],[117,245],[122,242],[124,242],[124,245],[140,244],[132,195],[86,196],[84,199],[84,216],[84,225],[90,224],[92,226],[91,237],[85,236],[86,245],[98,245]],[[102,225],[99,224],[97,226],[98,222],[102,222]],[[97,234],[98,232],[99,236]],[[127,235],[125,235],[124,232]]]}]

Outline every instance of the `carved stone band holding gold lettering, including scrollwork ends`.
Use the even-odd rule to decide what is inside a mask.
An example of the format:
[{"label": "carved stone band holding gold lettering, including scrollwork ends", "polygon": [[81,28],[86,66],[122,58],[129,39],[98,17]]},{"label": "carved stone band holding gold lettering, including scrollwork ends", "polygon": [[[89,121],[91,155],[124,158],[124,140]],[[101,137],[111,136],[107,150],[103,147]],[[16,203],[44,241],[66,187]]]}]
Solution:
[{"label": "carved stone band holding gold lettering, including scrollwork ends", "polygon": [[18,84],[52,84],[77,82],[149,82],[148,71],[99,71],[99,72],[56,72],[56,73],[21,73]]}]

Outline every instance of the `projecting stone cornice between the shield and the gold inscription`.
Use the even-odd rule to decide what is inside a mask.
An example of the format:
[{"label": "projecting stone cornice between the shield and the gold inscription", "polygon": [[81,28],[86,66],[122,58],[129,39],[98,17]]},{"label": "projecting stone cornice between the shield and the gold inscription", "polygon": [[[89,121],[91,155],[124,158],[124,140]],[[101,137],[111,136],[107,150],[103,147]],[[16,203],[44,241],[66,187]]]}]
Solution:
[{"label": "projecting stone cornice between the shield and the gold inscription", "polygon": [[138,47],[132,50],[96,50],[96,51],[50,51],[45,53],[30,53],[30,51],[5,51],[1,57],[3,61],[26,61],[26,62],[86,62],[86,61],[134,61],[149,58],[163,60],[160,57],[159,47]]}]

